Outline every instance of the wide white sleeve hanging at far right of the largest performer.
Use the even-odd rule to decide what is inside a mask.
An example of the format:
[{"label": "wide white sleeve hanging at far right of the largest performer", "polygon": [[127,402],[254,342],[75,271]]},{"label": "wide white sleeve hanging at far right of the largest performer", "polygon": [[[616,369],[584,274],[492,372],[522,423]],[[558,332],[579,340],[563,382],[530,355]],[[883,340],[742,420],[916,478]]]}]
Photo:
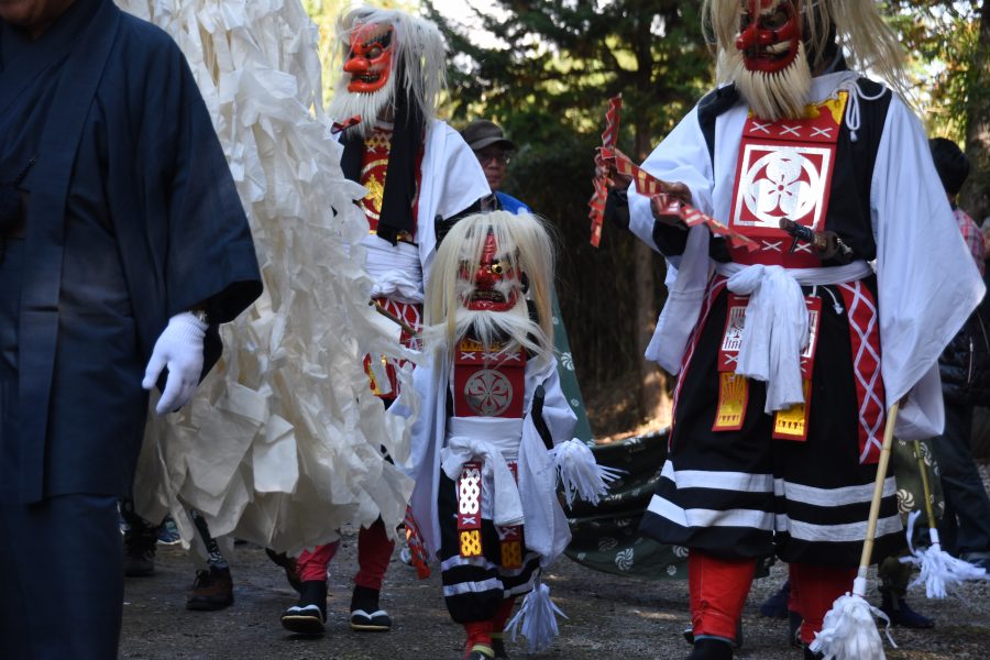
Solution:
[{"label": "wide white sleeve hanging at far right of the largest performer", "polygon": [[985,293],[921,122],[891,101],[873,167],[881,373],[888,408],[909,395],[895,432],[904,440],[942,432],[938,356]]}]

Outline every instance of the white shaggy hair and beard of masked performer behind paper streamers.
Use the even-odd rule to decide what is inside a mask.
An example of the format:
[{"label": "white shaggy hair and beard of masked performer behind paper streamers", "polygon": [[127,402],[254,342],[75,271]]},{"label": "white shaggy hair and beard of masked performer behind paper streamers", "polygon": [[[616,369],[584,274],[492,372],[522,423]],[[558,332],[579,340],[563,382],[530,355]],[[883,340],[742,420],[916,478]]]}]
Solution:
[{"label": "white shaggy hair and beard of masked performer behind paper streamers", "polygon": [[[376,117],[366,114],[393,101],[395,92],[402,92],[406,95],[408,106],[417,107],[424,120],[429,122],[437,116],[440,95],[447,89],[447,51],[440,30],[426,19],[397,9],[355,7],[341,14],[337,22],[338,56],[346,59],[351,34],[369,23],[391,25],[393,29],[393,59],[388,82],[378,92],[355,95],[348,91],[350,76],[341,72],[331,100],[331,114],[341,113],[334,117],[338,120],[361,114],[362,129],[370,130]],[[361,100],[354,97],[366,98]],[[348,110],[343,110],[345,103]],[[366,107],[365,112],[360,111],[362,105]],[[354,109],[359,111],[353,111]]]}]

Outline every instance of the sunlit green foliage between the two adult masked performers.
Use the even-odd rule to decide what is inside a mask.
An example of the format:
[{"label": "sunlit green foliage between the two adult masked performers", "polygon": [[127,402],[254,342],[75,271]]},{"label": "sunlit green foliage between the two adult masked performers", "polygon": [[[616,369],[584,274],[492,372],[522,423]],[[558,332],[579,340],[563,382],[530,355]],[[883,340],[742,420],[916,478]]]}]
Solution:
[{"label": "sunlit green foliage between the two adult masked performers", "polygon": [[[454,67],[454,120],[484,112],[514,134],[547,143],[561,134],[601,132],[607,98],[623,92],[624,143],[659,141],[704,92],[711,58],[696,2],[678,0],[501,0],[466,22],[493,35],[485,47],[424,0],[443,30]],[[640,119],[641,118],[641,119]],[[524,131],[525,130],[525,131]],[[641,148],[641,147],[640,147]]]}]

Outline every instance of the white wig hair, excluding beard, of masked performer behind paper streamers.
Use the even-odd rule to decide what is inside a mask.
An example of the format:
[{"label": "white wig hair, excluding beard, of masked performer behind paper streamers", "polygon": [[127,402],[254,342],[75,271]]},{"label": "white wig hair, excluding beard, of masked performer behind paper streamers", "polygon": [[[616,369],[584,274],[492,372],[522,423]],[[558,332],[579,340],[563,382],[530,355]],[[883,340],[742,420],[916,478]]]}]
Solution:
[{"label": "white wig hair, excluding beard, of masked performer behind paper streamers", "polygon": [[[405,91],[410,106],[415,103],[429,122],[437,116],[440,95],[447,89],[447,51],[437,25],[397,9],[354,7],[337,22],[338,55],[346,58],[351,34],[361,25],[381,23],[393,29],[393,61],[389,79],[395,78],[396,92]],[[349,76],[341,72],[341,81]],[[346,82],[343,82],[346,89]],[[342,118],[337,118],[342,119]],[[374,121],[374,118],[371,118]]]}]

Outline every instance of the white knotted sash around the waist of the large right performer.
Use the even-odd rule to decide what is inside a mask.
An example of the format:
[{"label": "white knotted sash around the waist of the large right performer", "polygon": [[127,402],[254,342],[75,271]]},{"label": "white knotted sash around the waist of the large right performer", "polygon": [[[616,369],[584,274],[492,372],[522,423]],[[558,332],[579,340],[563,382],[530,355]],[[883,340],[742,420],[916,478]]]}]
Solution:
[{"label": "white knotted sash around the waist of the large right performer", "polygon": [[822,268],[719,263],[715,272],[728,278],[730,292],[749,296],[736,373],[767,383],[768,415],[803,404],[801,353],[807,346],[809,324],[801,287],[855,282],[872,268],[865,261]]}]

